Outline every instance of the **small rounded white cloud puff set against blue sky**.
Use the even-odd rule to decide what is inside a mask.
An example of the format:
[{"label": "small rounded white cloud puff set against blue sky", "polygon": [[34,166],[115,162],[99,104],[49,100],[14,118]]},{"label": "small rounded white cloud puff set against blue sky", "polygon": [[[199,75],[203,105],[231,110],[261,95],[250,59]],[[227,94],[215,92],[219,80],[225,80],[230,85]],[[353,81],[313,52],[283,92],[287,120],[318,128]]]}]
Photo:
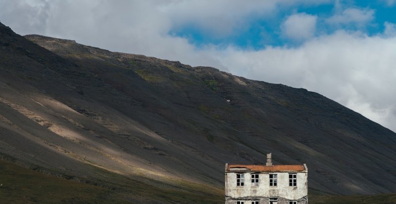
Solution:
[{"label": "small rounded white cloud puff set against blue sky", "polygon": [[293,40],[306,40],[315,35],[317,16],[297,13],[289,16],[281,25],[283,34]]}]

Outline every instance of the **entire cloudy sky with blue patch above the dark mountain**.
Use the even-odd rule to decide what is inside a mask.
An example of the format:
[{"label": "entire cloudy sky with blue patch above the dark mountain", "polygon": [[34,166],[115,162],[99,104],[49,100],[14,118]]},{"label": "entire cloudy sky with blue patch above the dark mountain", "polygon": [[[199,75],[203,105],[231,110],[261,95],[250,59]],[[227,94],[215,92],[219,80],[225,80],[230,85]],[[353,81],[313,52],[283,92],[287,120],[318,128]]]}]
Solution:
[{"label": "entire cloudy sky with blue patch above the dark mountain", "polygon": [[306,88],[396,131],[396,0],[0,0],[0,22]]}]

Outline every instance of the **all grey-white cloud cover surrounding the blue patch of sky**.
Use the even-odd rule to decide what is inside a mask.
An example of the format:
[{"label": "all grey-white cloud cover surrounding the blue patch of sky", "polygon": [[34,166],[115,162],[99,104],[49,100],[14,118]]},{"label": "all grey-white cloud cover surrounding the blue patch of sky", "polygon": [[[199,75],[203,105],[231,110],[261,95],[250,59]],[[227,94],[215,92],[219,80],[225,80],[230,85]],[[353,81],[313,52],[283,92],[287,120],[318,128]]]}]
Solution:
[{"label": "all grey-white cloud cover surrounding the blue patch of sky", "polygon": [[[257,8],[239,0],[210,1],[214,2],[210,6],[199,2],[0,0],[0,19],[23,35],[36,33],[73,39],[113,51],[213,66],[249,79],[304,87],[396,131],[394,24],[385,24],[383,35],[369,37],[340,31],[312,38],[316,16],[297,13],[286,19],[282,31],[287,37],[305,40],[298,47],[241,50],[207,45],[198,49],[184,38],[170,36],[169,31],[192,23],[220,36],[229,35],[227,32],[237,24],[246,22],[244,18],[250,11],[271,15],[279,11],[276,6],[281,1],[257,4]],[[288,5],[295,2],[282,1]],[[337,24],[367,23],[373,15],[373,10],[346,9],[332,18]],[[216,30],[217,27],[221,29]]]}]

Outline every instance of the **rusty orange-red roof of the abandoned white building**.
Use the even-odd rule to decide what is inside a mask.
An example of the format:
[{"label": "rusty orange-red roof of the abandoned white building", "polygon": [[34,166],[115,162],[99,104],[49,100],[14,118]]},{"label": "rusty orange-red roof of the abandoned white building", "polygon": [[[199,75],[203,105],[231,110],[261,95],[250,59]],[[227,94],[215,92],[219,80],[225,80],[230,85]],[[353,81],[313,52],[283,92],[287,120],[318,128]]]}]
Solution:
[{"label": "rusty orange-red roof of the abandoned white building", "polygon": [[227,171],[230,168],[248,168],[251,171],[304,171],[304,165],[244,165],[244,164],[229,164]]}]

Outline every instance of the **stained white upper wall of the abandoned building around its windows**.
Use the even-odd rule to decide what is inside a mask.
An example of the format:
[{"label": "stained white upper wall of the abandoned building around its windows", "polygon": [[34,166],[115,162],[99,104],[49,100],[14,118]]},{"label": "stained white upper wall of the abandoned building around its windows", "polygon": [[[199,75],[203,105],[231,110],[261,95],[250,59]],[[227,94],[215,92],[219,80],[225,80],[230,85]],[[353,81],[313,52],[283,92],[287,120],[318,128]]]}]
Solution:
[{"label": "stained white upper wall of the abandoned building around its windows", "polygon": [[[254,200],[259,200],[258,198],[264,199],[269,197],[278,197],[284,198],[286,200],[299,200],[308,195],[307,173],[305,172],[297,172],[297,186],[289,186],[288,172],[276,173],[278,174],[277,186],[269,186],[269,173],[259,173],[258,186],[251,186],[250,172],[244,174],[245,185],[237,186],[237,173],[227,173],[225,182],[227,185],[225,188],[226,198],[231,197],[230,199],[235,199],[243,197],[254,197]],[[278,202],[278,204],[281,203]]]}]

